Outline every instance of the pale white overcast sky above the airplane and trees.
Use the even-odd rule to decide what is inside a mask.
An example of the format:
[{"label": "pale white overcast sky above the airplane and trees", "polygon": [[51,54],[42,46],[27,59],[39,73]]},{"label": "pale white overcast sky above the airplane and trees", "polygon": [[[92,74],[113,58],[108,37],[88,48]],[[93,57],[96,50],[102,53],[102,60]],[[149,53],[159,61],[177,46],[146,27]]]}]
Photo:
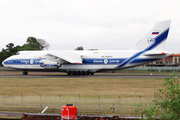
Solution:
[{"label": "pale white overcast sky above the airplane and trees", "polygon": [[0,0],[0,51],[31,36],[49,50],[126,50],[162,20],[166,50],[180,53],[180,0]]}]

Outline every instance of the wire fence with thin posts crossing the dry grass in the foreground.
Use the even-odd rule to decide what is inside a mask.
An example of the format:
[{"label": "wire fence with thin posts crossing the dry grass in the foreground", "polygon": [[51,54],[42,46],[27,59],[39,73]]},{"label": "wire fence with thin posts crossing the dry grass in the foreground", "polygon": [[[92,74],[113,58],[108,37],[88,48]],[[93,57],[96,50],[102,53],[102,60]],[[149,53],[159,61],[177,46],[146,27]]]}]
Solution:
[{"label": "wire fence with thin posts crossing the dry grass in the foreground", "polygon": [[3,111],[22,111],[31,113],[40,113],[47,106],[45,113],[61,113],[62,106],[72,103],[77,106],[78,114],[104,114],[104,115],[127,115],[132,114],[139,103],[148,105],[154,98],[107,98],[96,96],[82,97],[55,97],[42,96],[6,96],[0,97],[0,108]]}]

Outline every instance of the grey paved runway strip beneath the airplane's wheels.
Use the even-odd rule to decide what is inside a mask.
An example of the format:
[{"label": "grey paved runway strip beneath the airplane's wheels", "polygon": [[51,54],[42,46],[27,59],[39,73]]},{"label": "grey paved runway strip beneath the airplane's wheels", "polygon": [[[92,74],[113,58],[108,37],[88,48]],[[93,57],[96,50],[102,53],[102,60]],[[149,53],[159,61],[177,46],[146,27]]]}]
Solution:
[{"label": "grey paved runway strip beneath the airplane's wheels", "polygon": [[0,71],[0,78],[166,78],[171,73],[95,73],[95,75],[71,75],[59,72],[29,72],[22,75],[22,71]]}]

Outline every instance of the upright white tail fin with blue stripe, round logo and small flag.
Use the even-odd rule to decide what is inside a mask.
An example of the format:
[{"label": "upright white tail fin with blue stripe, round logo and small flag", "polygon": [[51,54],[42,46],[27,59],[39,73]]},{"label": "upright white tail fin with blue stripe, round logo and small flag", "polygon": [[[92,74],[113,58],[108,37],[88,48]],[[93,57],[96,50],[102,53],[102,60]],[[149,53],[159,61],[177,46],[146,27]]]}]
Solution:
[{"label": "upright white tail fin with blue stripe, round logo and small flag", "polygon": [[164,50],[170,23],[171,20],[166,20],[156,24],[132,49],[145,51]]}]

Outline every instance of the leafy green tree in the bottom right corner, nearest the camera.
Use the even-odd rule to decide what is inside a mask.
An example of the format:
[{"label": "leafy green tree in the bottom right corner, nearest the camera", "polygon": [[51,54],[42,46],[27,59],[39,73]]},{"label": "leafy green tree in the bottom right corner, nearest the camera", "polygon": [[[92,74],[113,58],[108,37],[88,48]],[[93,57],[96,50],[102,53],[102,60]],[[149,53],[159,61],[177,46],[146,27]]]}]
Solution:
[{"label": "leafy green tree in the bottom right corner, nearest the camera", "polygon": [[[180,119],[180,84],[175,74],[165,78],[164,89],[159,89],[157,99],[153,100],[149,107],[138,105],[136,113],[146,115],[146,119],[179,120]],[[162,113],[161,113],[162,112]]]}]

